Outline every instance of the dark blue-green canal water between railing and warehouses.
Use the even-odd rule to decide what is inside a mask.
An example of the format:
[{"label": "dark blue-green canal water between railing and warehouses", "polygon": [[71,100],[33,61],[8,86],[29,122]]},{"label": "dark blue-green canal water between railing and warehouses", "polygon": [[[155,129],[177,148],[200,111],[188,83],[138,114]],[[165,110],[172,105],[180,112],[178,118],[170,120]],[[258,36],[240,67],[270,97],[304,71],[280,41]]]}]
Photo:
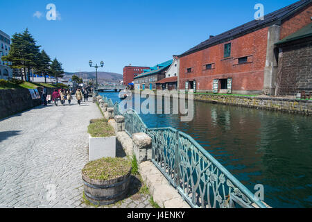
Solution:
[{"label": "dark blue-green canal water between railing and warehouses", "polygon": [[[120,102],[118,93],[102,96]],[[194,118],[140,114],[148,128],[191,135],[252,193],[264,187],[272,207],[312,207],[312,117],[194,102]]]}]

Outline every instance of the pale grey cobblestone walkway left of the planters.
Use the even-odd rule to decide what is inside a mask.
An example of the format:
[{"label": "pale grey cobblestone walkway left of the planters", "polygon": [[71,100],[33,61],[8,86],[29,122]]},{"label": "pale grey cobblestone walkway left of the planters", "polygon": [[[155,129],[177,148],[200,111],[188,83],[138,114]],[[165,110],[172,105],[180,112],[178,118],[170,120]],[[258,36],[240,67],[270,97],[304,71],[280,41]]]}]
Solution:
[{"label": "pale grey cobblestone walkway left of the planters", "polygon": [[[73,99],[0,121],[0,207],[87,207],[80,174],[88,160],[87,126],[101,117],[95,103]],[[116,207],[150,207],[147,196],[135,196]]]}]

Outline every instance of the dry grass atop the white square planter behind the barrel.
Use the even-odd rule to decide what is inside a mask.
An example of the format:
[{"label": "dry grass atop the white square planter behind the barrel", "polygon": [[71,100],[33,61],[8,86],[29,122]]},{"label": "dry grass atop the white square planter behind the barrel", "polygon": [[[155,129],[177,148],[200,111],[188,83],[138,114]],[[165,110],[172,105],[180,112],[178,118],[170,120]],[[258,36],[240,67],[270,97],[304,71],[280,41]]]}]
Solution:
[{"label": "dry grass atop the white square planter behind the barrel", "polygon": [[106,119],[98,119],[88,126],[88,133],[92,137],[112,137],[115,134],[114,128],[107,123]]}]

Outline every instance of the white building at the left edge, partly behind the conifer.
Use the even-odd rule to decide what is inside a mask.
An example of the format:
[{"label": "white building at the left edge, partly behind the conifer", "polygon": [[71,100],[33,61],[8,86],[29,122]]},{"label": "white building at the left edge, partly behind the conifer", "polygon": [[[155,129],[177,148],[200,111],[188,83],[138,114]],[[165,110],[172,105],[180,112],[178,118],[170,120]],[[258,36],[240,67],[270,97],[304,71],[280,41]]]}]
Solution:
[{"label": "white building at the left edge, partly behind the conifer", "polygon": [[2,56],[8,56],[10,44],[10,35],[7,35],[0,30],[0,78],[4,79],[12,78],[12,69],[8,67],[5,61],[1,60]]}]

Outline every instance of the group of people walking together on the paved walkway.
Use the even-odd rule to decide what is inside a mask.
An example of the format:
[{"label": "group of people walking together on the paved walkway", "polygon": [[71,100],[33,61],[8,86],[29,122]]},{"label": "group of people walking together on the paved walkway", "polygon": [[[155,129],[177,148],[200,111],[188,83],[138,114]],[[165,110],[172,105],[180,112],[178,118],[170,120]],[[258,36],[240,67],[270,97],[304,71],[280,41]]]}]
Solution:
[{"label": "group of people walking together on the paved walkway", "polygon": [[[83,99],[85,99],[85,102],[88,101],[88,97],[89,97],[89,92],[87,92],[87,89],[83,89],[81,90],[80,88],[78,88],[76,90],[76,99],[78,101],[78,104],[81,105],[81,101],[83,101]],[[55,91],[53,92],[53,94],[51,95],[51,101],[54,102],[54,105],[58,105],[58,101],[61,101],[62,105],[65,105],[65,101],[68,101],[69,105],[71,105],[71,90],[70,89],[55,89]]]}]

